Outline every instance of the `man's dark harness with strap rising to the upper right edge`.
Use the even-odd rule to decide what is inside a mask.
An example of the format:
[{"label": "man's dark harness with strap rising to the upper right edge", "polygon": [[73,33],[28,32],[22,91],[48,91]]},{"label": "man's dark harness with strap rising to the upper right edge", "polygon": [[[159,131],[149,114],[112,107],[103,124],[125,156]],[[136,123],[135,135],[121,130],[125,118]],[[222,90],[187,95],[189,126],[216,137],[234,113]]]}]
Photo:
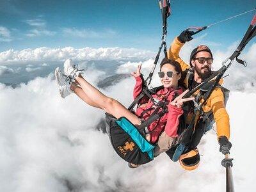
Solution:
[{"label": "man's dark harness with strap rising to the upper right edge", "polygon": [[[173,146],[170,150],[166,152],[166,154],[173,160],[178,161],[181,154],[196,148],[198,143],[200,142],[202,136],[205,132],[209,131],[212,128],[212,125],[214,124],[214,118],[212,111],[209,111],[205,113],[203,111],[203,106],[207,102],[207,99],[209,99],[211,93],[215,88],[221,88],[223,95],[224,95],[224,103],[227,103],[228,96],[229,96],[229,90],[224,88],[223,86],[220,86],[219,82],[221,77],[225,74],[226,70],[232,65],[234,59],[236,58],[237,63],[240,63],[244,67],[247,66],[246,61],[240,60],[238,56],[243,51],[244,47],[248,44],[250,40],[252,40],[253,37],[256,35],[256,15],[254,15],[252,22],[250,26],[248,27],[243,39],[241,40],[240,44],[238,45],[236,51],[233,52],[233,54],[222,63],[222,67],[220,70],[216,72],[212,72],[211,76],[205,79],[202,83],[198,84],[195,88],[191,89],[191,85],[193,81],[193,68],[189,69],[187,71],[186,80],[188,81],[188,88],[189,91],[184,95],[184,98],[190,97],[198,90],[199,93],[197,94],[195,98],[195,108],[194,108],[194,114],[191,118],[191,122],[189,123],[188,127],[186,129],[183,129],[175,141],[173,143]],[[198,31],[204,30],[203,28],[198,29]],[[190,86],[190,87],[189,87]],[[202,100],[202,102],[200,102]],[[184,111],[186,111],[186,107],[184,106]],[[189,109],[187,109],[189,111]],[[186,117],[186,113],[184,115]]]}]

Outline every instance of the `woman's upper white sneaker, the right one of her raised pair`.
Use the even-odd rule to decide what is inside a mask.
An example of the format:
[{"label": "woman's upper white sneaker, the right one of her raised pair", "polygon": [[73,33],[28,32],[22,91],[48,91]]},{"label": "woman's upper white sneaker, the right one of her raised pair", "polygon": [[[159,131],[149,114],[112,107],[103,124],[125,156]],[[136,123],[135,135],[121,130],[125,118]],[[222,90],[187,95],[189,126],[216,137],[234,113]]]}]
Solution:
[{"label": "woman's upper white sneaker, the right one of her raised pair", "polygon": [[71,81],[75,81],[75,78],[79,76],[79,74],[83,74],[83,70],[77,69],[76,65],[71,59],[65,61],[64,65],[64,74],[70,77]]}]

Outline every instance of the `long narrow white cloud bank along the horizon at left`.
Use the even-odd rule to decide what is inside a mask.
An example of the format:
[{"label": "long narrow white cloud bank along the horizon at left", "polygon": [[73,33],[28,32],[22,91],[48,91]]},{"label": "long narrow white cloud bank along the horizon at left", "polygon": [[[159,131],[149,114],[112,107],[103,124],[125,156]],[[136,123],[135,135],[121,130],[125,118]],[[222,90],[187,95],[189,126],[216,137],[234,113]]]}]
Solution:
[{"label": "long narrow white cloud bank along the horizon at left", "polygon": [[118,47],[93,49],[84,47],[75,49],[73,47],[51,49],[40,47],[36,49],[23,49],[21,51],[0,52],[1,63],[17,63],[24,61],[64,61],[67,58],[72,58],[76,61],[83,60],[120,60],[133,58],[148,58],[153,56],[154,52],[140,49],[122,49]]}]

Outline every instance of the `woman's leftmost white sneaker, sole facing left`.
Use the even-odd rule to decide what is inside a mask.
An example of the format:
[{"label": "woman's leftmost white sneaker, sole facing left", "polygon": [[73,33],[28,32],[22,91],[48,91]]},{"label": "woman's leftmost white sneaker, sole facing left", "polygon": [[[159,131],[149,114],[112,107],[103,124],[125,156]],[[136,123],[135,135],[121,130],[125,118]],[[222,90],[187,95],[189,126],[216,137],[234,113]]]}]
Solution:
[{"label": "woman's leftmost white sneaker, sole facing left", "polygon": [[58,90],[62,98],[65,98],[70,95],[70,93],[73,93],[72,90],[70,90],[70,85],[72,82],[70,81],[69,77],[63,75],[59,67],[57,67],[55,70],[55,77],[58,84]]}]

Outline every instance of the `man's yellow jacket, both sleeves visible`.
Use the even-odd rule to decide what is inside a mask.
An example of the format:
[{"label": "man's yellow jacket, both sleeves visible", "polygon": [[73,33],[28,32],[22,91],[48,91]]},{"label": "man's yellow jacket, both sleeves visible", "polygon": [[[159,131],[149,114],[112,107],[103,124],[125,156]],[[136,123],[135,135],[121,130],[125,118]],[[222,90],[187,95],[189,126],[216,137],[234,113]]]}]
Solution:
[{"label": "man's yellow jacket, both sleeves visible", "polygon": [[[183,45],[184,44],[180,43],[178,38],[176,37],[173,40],[172,45],[167,52],[169,59],[175,60],[180,63],[182,71],[190,68],[190,66],[187,63],[185,63],[179,56],[180,49],[182,48]],[[216,122],[218,138],[220,136],[226,136],[229,139],[229,116],[225,109],[224,95],[223,92],[221,91],[221,88],[215,88],[213,90],[205,106],[203,107],[203,110],[204,112],[209,112],[210,110],[212,111],[214,120]]]}]

